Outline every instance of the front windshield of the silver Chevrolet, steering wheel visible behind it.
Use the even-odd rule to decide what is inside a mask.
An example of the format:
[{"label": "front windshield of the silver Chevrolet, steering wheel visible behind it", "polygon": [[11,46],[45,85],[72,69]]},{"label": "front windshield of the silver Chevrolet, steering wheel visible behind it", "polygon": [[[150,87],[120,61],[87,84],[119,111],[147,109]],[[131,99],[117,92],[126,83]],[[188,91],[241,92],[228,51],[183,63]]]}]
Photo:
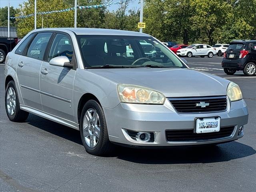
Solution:
[{"label": "front windshield of the silver Chevrolet, steering wheel visible behind it", "polygon": [[85,68],[187,68],[152,37],[78,35]]}]

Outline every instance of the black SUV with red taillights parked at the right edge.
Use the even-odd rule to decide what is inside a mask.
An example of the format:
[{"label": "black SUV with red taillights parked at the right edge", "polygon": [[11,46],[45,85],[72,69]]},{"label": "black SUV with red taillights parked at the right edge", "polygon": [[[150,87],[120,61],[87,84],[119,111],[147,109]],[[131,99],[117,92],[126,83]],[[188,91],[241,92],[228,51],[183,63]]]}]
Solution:
[{"label": "black SUV with red taillights parked at the right edge", "polygon": [[232,41],[224,52],[222,68],[228,75],[242,70],[245,75],[256,73],[256,40]]}]

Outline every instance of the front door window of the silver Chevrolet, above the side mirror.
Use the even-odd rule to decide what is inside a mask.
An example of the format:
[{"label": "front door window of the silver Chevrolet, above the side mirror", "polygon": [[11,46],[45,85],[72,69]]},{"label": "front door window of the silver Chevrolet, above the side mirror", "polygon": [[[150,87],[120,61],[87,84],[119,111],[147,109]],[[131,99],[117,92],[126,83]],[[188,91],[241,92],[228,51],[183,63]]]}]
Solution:
[{"label": "front door window of the silver Chevrolet, above the side mirror", "polygon": [[66,56],[70,61],[73,57],[73,48],[68,36],[63,34],[56,34],[50,48],[48,61],[54,57]]}]

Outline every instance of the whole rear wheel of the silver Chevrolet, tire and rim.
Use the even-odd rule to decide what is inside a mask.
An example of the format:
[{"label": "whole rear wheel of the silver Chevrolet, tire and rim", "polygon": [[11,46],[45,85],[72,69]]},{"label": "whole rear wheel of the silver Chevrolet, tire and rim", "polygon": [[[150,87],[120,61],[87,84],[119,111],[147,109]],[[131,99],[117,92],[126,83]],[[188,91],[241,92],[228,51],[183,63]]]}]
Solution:
[{"label": "whole rear wheel of the silver Chevrolet, tire and rim", "polygon": [[14,81],[10,81],[5,91],[5,110],[10,121],[24,122],[29,113],[20,109],[20,101]]}]

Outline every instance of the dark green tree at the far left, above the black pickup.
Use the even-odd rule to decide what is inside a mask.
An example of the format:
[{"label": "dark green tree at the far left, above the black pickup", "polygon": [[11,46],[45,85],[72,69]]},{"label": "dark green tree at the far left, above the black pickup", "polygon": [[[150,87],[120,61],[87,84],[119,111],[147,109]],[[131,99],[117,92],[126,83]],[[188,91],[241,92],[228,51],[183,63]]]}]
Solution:
[{"label": "dark green tree at the far left, above the black pickup", "polygon": [[[17,13],[17,10],[14,9],[12,6],[10,7],[10,17],[14,17]],[[0,8],[0,26],[7,27],[8,26],[8,7]],[[16,20],[10,19],[10,26],[16,26]]]}]

